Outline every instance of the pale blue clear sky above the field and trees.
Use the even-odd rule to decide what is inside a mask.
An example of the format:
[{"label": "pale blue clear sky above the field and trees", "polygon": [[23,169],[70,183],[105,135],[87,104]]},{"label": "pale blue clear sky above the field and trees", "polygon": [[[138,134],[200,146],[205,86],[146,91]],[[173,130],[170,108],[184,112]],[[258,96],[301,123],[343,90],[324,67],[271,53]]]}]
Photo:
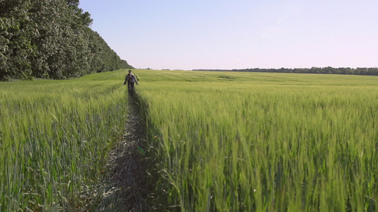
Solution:
[{"label": "pale blue clear sky above the field and trees", "polygon": [[137,69],[377,67],[378,0],[80,0]]}]

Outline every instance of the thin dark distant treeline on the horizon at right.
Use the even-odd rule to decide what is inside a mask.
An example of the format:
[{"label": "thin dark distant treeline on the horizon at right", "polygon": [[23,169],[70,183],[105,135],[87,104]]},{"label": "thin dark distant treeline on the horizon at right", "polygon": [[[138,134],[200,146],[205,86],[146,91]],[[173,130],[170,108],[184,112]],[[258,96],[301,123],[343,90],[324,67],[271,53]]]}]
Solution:
[{"label": "thin dark distant treeline on the horizon at right", "polygon": [[274,72],[274,73],[329,73],[329,74],[355,74],[355,75],[375,75],[378,76],[378,68],[332,68],[324,67],[311,69],[196,69],[193,71],[244,71],[244,72]]}]

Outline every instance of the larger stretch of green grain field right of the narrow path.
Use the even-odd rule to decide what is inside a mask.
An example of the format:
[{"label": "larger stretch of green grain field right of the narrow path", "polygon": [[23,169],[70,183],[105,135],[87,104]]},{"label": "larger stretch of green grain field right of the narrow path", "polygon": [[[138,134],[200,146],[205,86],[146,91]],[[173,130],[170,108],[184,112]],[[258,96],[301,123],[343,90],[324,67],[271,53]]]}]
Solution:
[{"label": "larger stretch of green grain field right of the narrow path", "polygon": [[169,211],[378,211],[378,77],[137,71]]}]

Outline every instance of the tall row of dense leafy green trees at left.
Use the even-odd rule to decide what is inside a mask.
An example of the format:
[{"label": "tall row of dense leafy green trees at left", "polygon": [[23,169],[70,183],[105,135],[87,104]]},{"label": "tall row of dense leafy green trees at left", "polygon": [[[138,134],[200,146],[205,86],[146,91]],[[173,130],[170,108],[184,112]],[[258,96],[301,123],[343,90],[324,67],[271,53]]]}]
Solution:
[{"label": "tall row of dense leafy green trees at left", "polygon": [[133,68],[89,28],[92,21],[79,0],[1,0],[0,81]]}]

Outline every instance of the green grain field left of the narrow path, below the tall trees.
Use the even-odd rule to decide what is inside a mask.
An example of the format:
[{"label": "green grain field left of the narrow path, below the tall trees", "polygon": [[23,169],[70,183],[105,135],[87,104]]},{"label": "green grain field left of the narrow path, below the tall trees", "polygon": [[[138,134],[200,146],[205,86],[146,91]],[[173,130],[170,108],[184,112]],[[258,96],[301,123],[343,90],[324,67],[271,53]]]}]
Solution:
[{"label": "green grain field left of the narrow path, below the tall trees", "polygon": [[123,131],[125,74],[0,83],[0,211],[75,204]]}]

